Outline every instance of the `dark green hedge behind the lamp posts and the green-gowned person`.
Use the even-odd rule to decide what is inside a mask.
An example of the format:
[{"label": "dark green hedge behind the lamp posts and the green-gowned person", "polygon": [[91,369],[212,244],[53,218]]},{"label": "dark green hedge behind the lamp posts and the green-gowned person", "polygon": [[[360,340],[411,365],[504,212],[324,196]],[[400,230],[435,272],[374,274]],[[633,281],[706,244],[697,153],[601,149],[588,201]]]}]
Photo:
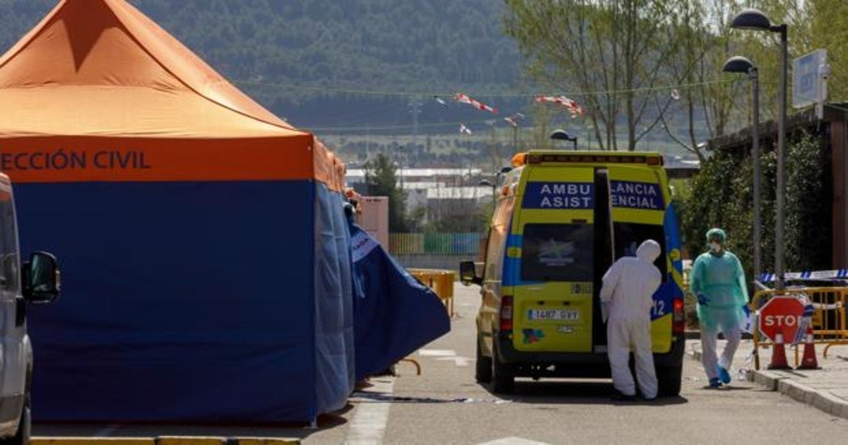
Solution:
[{"label": "dark green hedge behind the lamp posts and the green-gowned person", "polygon": [[[789,141],[786,187],[786,270],[830,267],[830,203],[832,197],[828,152],[823,139],[801,132]],[[762,267],[773,270],[775,171],[774,152],[762,153]],[[751,236],[754,226],[753,168],[742,151],[721,150],[702,165],[684,197],[683,231],[690,258],[704,251],[710,227],[728,231],[729,248],[739,256],[750,276],[753,266]]]}]

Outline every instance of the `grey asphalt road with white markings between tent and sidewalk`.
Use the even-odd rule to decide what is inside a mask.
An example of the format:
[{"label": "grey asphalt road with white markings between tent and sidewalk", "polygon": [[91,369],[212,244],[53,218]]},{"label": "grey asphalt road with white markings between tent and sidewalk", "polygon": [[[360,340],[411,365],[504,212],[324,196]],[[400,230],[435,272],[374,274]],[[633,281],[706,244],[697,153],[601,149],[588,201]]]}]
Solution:
[{"label": "grey asphalt road with white markings between tent and sidewalk", "polygon": [[848,437],[848,420],[823,414],[753,383],[706,388],[700,363],[684,359],[683,392],[655,402],[611,401],[611,381],[516,381],[500,397],[475,383],[474,314],[478,287],[456,288],[449,335],[398,364],[399,376],[371,379],[341,412],[317,429],[186,426],[47,426],[36,436],[301,437],[304,443],[724,443],[773,444]]}]

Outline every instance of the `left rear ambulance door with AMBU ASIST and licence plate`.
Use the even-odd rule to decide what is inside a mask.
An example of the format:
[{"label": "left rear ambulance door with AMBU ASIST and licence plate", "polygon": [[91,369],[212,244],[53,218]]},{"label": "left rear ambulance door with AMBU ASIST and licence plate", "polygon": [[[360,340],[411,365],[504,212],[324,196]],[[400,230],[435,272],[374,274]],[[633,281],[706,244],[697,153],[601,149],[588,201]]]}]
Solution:
[{"label": "left rear ambulance door with AMBU ASIST and licence plate", "polygon": [[594,168],[534,166],[519,186],[513,347],[592,351]]}]

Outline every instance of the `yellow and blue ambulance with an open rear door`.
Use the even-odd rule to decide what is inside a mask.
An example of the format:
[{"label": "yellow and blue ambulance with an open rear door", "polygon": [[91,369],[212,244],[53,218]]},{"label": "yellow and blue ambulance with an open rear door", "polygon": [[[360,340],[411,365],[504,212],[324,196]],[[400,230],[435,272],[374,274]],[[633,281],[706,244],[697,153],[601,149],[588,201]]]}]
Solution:
[{"label": "yellow and blue ambulance with an open rear door", "polygon": [[610,377],[601,277],[646,239],[663,279],[651,324],[661,395],[680,392],[683,277],[678,222],[659,153],[530,151],[503,175],[481,286],[477,381],[511,392],[516,377]]}]

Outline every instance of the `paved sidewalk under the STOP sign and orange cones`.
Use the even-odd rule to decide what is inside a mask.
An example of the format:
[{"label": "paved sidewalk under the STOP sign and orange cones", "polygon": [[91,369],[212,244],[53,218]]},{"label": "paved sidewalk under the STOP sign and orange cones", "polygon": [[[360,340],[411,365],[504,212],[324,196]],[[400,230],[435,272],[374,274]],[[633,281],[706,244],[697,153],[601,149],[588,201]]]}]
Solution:
[{"label": "paved sidewalk under the STOP sign and orange cones", "polygon": [[[719,353],[723,348],[724,342],[719,341]],[[827,414],[848,419],[848,345],[828,349],[827,359],[822,357],[823,349],[824,345],[816,345],[819,370],[767,370],[772,359],[772,349],[760,348],[760,370],[754,370],[751,354],[754,342],[742,340],[730,374],[739,378],[739,371],[744,370],[748,381],[781,392]],[[700,341],[688,340],[686,353],[700,363]],[[803,353],[803,346],[799,353]],[[790,366],[795,365],[795,348],[786,348],[786,359]]]}]

